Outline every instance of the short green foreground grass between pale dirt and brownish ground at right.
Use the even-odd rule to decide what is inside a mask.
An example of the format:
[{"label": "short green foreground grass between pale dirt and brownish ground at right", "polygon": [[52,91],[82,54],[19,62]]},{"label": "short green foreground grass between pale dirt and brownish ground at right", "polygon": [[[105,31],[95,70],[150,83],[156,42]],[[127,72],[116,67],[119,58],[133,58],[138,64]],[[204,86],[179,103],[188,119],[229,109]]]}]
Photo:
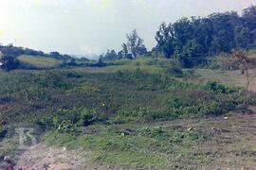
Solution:
[{"label": "short green foreground grass between pale dirt and brownish ground at right", "polygon": [[[46,136],[46,143],[90,149],[93,151],[92,161],[131,168],[164,169],[171,165],[170,157],[192,157],[189,151],[191,144],[201,143],[208,138],[201,131],[174,130],[170,127],[126,126],[125,130],[130,130],[130,134],[123,134],[124,129],[119,126],[98,128],[97,134],[85,131],[87,134],[79,137],[53,132]],[[177,144],[178,148],[173,144]],[[204,163],[201,157],[193,158],[196,159]],[[174,160],[173,164],[176,164]]]}]

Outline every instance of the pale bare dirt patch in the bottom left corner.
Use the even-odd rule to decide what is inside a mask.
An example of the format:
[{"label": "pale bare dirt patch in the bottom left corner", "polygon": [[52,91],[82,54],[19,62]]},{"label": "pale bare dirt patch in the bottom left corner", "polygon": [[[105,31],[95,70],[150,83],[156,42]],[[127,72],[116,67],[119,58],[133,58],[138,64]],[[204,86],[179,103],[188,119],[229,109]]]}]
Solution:
[{"label": "pale bare dirt patch in the bottom left corner", "polygon": [[47,147],[38,144],[27,150],[17,162],[17,168],[22,169],[86,169],[86,161],[89,161],[89,152],[67,150],[65,147]]}]

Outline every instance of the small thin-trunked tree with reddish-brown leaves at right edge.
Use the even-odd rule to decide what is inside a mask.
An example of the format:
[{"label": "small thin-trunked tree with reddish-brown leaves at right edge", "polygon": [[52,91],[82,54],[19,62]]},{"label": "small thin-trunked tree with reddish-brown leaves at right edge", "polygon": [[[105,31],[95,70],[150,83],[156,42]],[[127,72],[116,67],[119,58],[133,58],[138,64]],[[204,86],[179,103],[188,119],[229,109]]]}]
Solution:
[{"label": "small thin-trunked tree with reddish-brown leaves at right edge", "polygon": [[242,73],[246,75],[247,77],[247,86],[246,86],[246,92],[245,92],[245,99],[244,99],[244,107],[245,110],[248,110],[248,88],[250,84],[250,75],[249,70],[252,68],[255,68],[256,66],[256,59],[249,58],[249,55],[247,51],[235,51],[231,54],[231,57],[233,59],[232,65],[234,67],[238,67],[242,70]]}]

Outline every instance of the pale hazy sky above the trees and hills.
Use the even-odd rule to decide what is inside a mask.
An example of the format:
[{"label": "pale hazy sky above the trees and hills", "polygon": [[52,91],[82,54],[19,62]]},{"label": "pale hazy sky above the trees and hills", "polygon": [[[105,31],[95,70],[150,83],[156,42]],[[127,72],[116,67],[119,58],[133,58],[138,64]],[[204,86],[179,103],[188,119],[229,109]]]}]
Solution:
[{"label": "pale hazy sky above the trees and hills", "polygon": [[137,28],[148,48],[162,22],[256,5],[256,0],[0,0],[0,42],[83,55],[119,50]]}]

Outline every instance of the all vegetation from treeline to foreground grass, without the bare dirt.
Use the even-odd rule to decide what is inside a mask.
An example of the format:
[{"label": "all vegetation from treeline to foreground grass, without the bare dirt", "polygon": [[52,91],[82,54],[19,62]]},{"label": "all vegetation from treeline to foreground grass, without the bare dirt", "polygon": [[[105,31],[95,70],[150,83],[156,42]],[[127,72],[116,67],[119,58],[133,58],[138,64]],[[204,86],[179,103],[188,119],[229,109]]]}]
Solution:
[{"label": "all vegetation from treeline to foreground grass, without the bare dirt", "polygon": [[[210,117],[256,106],[255,89],[249,91],[255,58],[246,51],[256,47],[255,13],[250,7],[242,16],[214,13],[163,23],[150,52],[134,30],[121,51],[109,50],[99,61],[0,46],[0,158],[19,154],[13,127],[34,127],[47,144],[90,149],[93,161],[121,167],[203,168],[219,154],[218,144],[236,146],[235,157],[250,154],[247,159],[253,159],[255,153],[247,150],[255,143],[215,127]],[[227,77],[235,79],[239,69],[239,82],[229,82]],[[244,74],[246,85],[240,82]],[[211,127],[204,121],[204,127],[191,126],[198,118],[210,119]],[[183,119],[192,123],[169,125]],[[237,141],[230,142],[232,135]],[[214,153],[206,148],[210,141],[218,146]],[[246,153],[239,144],[249,145]]]}]

